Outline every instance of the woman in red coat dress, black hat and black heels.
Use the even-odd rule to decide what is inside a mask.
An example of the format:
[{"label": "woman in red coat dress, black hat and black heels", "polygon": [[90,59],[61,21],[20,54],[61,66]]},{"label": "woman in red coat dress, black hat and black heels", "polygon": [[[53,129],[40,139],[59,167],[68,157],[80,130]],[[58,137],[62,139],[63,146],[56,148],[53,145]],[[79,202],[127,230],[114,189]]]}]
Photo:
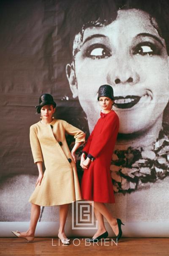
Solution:
[{"label": "woman in red coat dress, black hat and black heels", "polygon": [[121,224],[123,223],[120,219],[112,217],[104,205],[104,203],[115,203],[110,164],[119,130],[119,118],[112,110],[114,104],[112,86],[100,86],[98,101],[102,108],[101,117],[82,151],[81,166],[84,173],[81,192],[83,199],[94,201],[95,217],[98,220],[98,231],[90,242],[108,237],[103,217],[109,222],[118,241],[122,236]]}]

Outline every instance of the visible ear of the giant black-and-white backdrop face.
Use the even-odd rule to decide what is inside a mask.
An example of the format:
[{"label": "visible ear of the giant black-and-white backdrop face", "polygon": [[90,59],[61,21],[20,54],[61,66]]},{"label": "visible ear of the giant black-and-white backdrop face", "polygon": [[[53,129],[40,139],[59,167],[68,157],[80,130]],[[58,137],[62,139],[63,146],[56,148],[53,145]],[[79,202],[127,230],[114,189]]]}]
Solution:
[{"label": "visible ear of the giant black-and-white backdrop face", "polygon": [[76,98],[78,96],[76,75],[75,75],[74,68],[70,64],[66,65],[66,76],[68,78],[68,82],[69,82],[73,97]]}]

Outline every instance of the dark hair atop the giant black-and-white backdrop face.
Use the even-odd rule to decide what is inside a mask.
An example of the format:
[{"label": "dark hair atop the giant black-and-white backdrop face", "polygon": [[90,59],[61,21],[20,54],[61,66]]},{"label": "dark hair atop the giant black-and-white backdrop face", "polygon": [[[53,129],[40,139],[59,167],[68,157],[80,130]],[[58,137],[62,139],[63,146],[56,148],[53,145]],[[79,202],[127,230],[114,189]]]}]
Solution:
[{"label": "dark hair atop the giant black-and-white backdrop face", "polygon": [[[140,9],[155,18],[159,35],[165,39],[169,55],[169,3],[167,0],[60,0],[58,3],[66,19],[72,52],[74,37],[85,28],[108,25],[117,18],[118,10]],[[64,40],[68,42],[68,40]],[[64,43],[64,42],[63,42]],[[68,46],[67,46],[68,47]]]}]

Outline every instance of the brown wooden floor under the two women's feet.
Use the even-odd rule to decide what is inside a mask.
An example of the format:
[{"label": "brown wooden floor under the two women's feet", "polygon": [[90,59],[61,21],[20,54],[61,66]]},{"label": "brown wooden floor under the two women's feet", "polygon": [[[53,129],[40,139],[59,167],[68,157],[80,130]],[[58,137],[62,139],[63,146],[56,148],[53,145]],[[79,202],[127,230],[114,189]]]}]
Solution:
[{"label": "brown wooden floor under the two women's feet", "polygon": [[78,237],[63,245],[55,237],[36,237],[27,244],[25,239],[1,237],[0,256],[169,256],[169,238],[121,238],[117,245],[113,241],[89,244]]}]

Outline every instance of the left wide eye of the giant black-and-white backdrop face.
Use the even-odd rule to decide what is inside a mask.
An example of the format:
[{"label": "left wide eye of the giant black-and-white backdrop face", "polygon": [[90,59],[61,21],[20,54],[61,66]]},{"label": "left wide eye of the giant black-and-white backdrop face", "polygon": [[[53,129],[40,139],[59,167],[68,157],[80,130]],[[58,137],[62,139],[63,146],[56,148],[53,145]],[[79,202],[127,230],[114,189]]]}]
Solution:
[{"label": "left wide eye of the giant black-and-white backdrop face", "polygon": [[111,56],[111,52],[103,44],[93,44],[87,48],[85,55],[92,59],[103,59]]}]

